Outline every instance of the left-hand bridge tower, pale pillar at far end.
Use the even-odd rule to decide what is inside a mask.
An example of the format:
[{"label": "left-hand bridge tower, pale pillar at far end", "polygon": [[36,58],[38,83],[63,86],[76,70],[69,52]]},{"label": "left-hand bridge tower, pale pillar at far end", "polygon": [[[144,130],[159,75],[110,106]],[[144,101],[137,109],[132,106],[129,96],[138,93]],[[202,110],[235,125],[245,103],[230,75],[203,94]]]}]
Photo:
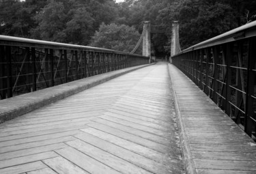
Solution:
[{"label": "left-hand bridge tower, pale pillar at far end", "polygon": [[150,57],[150,21],[145,21],[143,25],[143,30],[145,29],[145,34],[143,34],[143,47],[142,47],[142,55],[146,57]]}]

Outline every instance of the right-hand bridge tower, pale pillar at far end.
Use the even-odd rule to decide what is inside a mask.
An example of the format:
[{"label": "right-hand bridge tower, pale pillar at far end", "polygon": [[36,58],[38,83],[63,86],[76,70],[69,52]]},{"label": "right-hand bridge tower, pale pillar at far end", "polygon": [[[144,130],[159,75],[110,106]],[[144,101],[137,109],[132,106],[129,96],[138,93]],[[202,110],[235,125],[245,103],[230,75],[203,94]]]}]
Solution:
[{"label": "right-hand bridge tower, pale pillar at far end", "polygon": [[[172,31],[171,31],[171,57],[177,55],[182,50],[180,48],[180,38],[179,38],[179,22],[173,21]],[[170,62],[171,62],[170,57]]]}]

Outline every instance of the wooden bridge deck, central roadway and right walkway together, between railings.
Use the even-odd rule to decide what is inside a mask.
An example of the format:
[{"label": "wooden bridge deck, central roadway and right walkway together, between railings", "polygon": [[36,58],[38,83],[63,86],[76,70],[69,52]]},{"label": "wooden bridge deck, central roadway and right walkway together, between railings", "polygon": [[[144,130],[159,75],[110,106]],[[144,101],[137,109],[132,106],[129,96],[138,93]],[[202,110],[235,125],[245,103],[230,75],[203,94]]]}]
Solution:
[{"label": "wooden bridge deck, central roadway and right walkway together, between railings", "polygon": [[165,174],[184,173],[184,168],[256,173],[256,144],[167,63],[0,125],[1,174]]}]

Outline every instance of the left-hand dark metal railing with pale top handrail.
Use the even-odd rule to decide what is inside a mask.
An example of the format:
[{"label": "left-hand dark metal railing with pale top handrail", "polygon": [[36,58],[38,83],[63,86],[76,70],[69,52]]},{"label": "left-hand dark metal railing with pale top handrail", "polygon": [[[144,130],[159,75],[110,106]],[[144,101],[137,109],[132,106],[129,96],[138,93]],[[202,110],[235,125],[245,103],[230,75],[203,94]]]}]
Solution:
[{"label": "left-hand dark metal railing with pale top handrail", "polygon": [[0,35],[0,99],[148,62],[115,50]]}]

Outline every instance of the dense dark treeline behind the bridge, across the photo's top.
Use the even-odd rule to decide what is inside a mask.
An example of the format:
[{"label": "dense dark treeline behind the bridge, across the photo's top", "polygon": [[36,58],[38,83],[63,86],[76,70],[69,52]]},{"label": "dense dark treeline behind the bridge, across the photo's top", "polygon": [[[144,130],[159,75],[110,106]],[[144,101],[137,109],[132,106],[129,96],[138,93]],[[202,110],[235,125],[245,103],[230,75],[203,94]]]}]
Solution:
[{"label": "dense dark treeline behind the bridge, across the photo's top", "polygon": [[0,34],[130,51],[150,20],[166,31],[152,35],[152,50],[167,53],[172,20],[180,21],[186,48],[255,14],[255,0],[0,0]]}]

